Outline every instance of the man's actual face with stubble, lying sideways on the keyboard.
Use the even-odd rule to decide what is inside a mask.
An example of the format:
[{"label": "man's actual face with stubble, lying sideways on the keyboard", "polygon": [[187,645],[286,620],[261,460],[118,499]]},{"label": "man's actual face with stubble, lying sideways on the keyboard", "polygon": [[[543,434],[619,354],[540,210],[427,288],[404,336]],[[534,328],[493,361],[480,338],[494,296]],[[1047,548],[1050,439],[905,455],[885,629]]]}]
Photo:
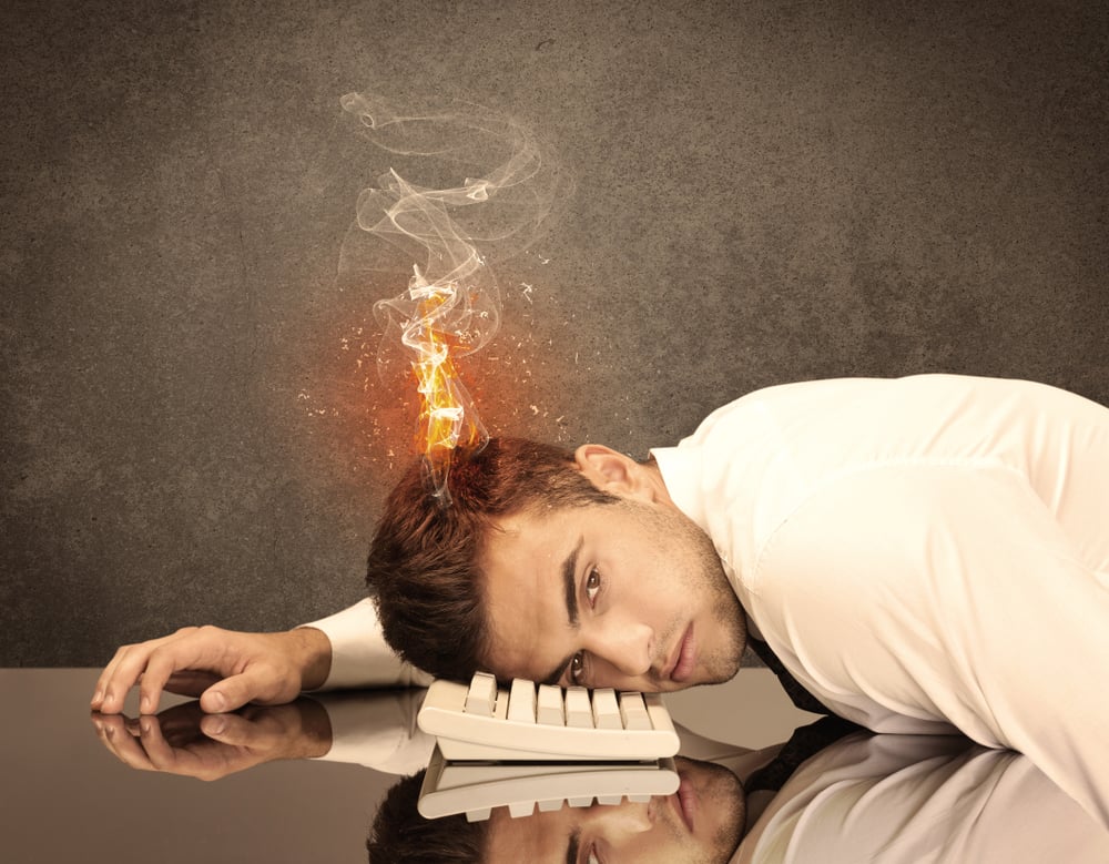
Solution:
[{"label": "man's actual face with stubble, lying sideways on the keyboard", "polygon": [[669,501],[624,496],[499,528],[480,563],[501,679],[665,691],[739,670],[742,609],[708,536]]}]

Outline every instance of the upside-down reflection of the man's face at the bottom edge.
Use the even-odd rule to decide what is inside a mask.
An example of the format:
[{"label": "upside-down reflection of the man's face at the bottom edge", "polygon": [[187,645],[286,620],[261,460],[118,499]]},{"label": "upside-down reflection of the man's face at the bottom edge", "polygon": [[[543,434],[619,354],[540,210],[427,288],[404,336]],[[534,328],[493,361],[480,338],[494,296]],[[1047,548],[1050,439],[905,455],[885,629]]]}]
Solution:
[{"label": "upside-down reflection of the man's face at the bottom edge", "polygon": [[508,807],[489,821],[487,860],[545,864],[725,862],[743,832],[743,787],[726,768],[675,760],[681,787],[650,803],[563,806],[511,819]]}]

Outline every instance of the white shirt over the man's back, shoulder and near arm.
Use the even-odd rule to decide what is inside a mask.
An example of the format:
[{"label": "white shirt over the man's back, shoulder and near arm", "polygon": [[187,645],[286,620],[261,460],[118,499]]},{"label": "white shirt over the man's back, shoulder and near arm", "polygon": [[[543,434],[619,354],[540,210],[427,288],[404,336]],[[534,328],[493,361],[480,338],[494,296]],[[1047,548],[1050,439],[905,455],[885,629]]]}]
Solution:
[{"label": "white shirt over the man's back, shoulder and near arm", "polygon": [[1024,382],[812,382],[653,455],[828,708],[1019,750],[1109,825],[1109,409]]}]

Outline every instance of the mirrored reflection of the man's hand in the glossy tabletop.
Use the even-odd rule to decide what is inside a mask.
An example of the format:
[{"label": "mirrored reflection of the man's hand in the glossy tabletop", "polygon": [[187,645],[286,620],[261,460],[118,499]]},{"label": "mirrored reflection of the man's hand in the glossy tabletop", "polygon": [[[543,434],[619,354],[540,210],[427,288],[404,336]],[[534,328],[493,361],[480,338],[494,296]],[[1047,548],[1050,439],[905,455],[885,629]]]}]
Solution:
[{"label": "mirrored reflection of the man's hand in the glossy tabletop", "polygon": [[131,768],[200,780],[278,759],[322,756],[332,745],[327,711],[311,699],[218,716],[187,702],[134,720],[93,713],[92,723],[104,746]]}]

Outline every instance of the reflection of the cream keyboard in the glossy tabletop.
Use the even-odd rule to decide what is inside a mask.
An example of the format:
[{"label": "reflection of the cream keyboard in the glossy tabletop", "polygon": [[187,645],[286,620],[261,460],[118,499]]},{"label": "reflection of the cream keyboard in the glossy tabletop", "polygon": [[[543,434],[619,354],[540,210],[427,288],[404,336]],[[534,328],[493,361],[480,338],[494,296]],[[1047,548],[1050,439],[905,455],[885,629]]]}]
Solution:
[{"label": "reflection of the cream keyboard in the glossy tabletop", "polygon": [[671,759],[659,762],[587,762],[559,764],[447,762],[435,749],[424,775],[417,810],[424,819],[465,813],[470,822],[489,819],[494,807],[507,806],[513,819],[572,807],[647,802],[652,795],[678,791]]}]

